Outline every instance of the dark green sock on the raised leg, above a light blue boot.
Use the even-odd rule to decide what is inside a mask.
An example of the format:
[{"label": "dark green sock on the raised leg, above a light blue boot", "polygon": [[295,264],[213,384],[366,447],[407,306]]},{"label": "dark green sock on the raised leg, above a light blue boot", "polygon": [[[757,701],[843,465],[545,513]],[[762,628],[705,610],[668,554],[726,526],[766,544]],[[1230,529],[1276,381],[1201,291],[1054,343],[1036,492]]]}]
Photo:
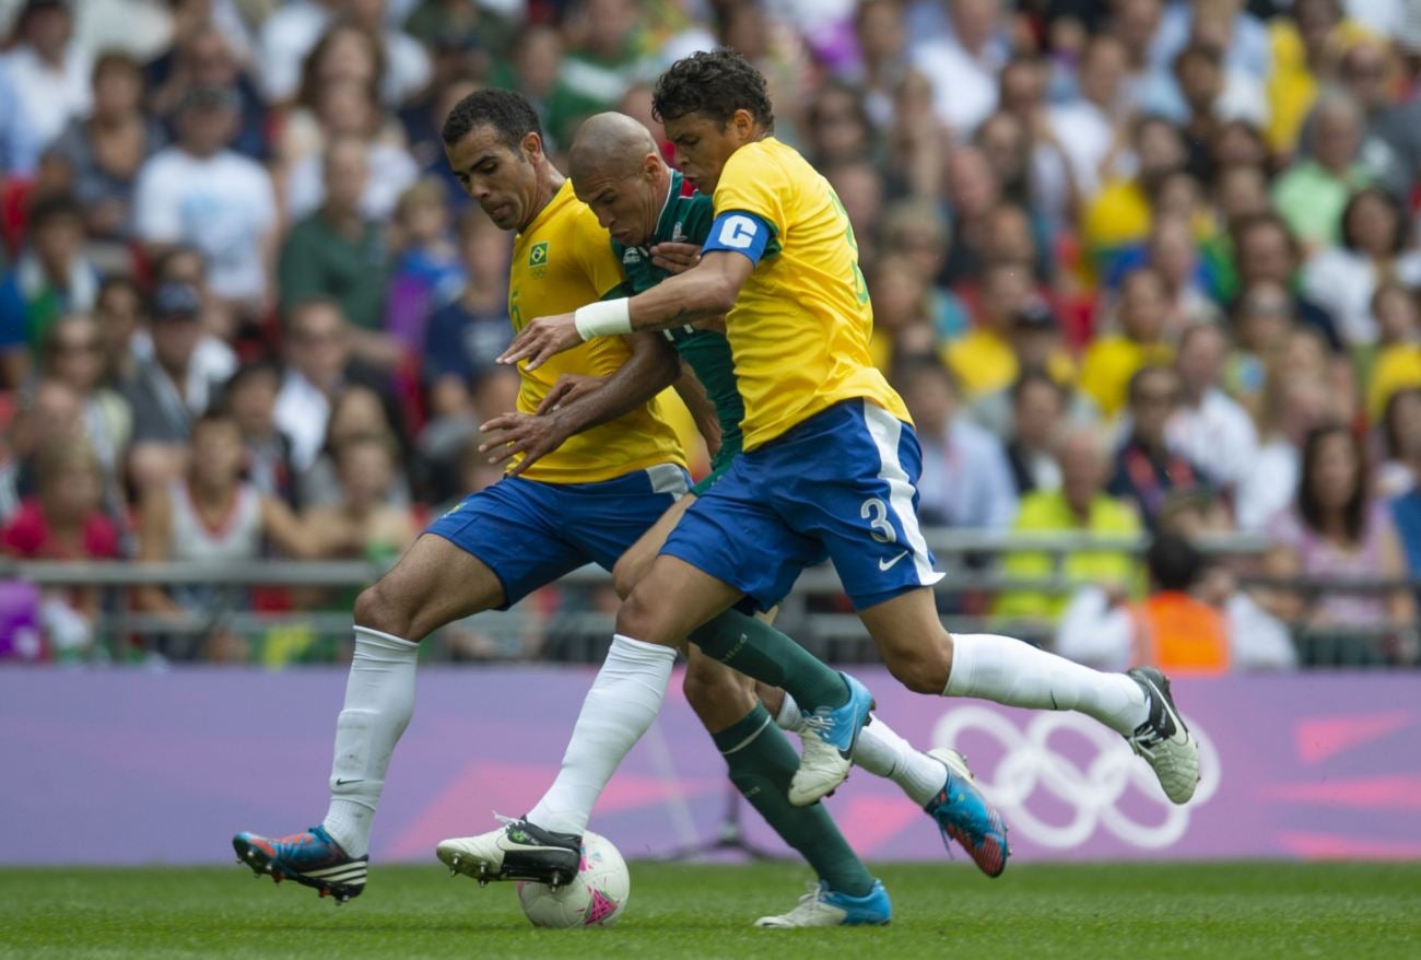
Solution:
[{"label": "dark green sock on the raised leg, above a light blue boot", "polygon": [[726,610],[696,627],[689,637],[708,657],[715,657],[746,677],[783,687],[801,710],[843,707],[848,686],[833,667],[794,643],[764,620]]}]

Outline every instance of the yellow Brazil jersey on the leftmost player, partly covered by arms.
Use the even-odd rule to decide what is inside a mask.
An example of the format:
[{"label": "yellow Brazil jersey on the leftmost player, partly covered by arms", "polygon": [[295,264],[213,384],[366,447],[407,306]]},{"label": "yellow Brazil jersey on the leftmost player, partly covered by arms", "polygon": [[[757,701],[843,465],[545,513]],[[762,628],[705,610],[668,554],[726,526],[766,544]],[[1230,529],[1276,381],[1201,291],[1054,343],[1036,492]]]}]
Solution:
[{"label": "yellow Brazil jersey on the leftmost player, partly covered by arms", "polygon": [[[622,282],[621,260],[597,223],[597,215],[573,195],[573,181],[563,186],[513,242],[509,276],[509,316],[522,330],[536,317],[568,313],[594,303]],[[560,353],[537,370],[519,364],[523,385],[519,410],[530,414],[561,374],[605,377],[618,370],[631,351],[621,337],[597,337]],[[516,462],[516,461],[514,461]],[[662,418],[655,401],[630,414],[570,437],[540,459],[527,479],[544,484],[590,484],[612,479],[657,464],[685,465],[681,442]]]}]

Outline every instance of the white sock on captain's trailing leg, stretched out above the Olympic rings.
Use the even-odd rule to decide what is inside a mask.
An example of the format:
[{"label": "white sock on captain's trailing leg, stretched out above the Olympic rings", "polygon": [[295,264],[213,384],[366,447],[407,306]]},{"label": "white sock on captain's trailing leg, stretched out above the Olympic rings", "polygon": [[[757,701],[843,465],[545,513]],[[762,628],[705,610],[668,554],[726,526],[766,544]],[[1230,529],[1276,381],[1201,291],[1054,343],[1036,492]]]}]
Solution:
[{"label": "white sock on captain's trailing leg, stretched out above the Olympic rings", "polygon": [[1079,710],[1124,735],[1150,715],[1144,690],[1125,674],[1100,673],[990,633],[952,634],[952,676],[942,693],[1009,707]]}]

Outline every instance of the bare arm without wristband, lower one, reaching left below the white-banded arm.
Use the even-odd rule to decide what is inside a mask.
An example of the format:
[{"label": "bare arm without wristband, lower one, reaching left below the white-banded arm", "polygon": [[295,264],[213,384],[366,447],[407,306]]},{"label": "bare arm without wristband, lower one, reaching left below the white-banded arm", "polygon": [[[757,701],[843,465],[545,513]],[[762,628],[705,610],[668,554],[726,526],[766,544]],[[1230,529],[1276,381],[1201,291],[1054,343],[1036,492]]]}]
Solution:
[{"label": "bare arm without wristband, lower one, reaching left below the white-banded arm", "polygon": [[543,414],[509,412],[482,424],[487,439],[479,451],[490,454],[490,464],[523,454],[509,471],[517,476],[568,437],[617,420],[676,381],[681,361],[664,340],[639,334],[627,337],[627,344],[631,357],[600,388],[583,391]]}]

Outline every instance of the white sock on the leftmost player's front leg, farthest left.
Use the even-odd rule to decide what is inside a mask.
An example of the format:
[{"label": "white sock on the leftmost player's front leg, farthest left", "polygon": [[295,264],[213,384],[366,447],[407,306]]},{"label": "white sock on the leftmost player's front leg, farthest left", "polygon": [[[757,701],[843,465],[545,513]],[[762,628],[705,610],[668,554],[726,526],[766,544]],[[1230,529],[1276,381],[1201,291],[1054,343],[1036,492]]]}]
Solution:
[{"label": "white sock on the leftmost player's front leg, farthest left", "polygon": [[355,627],[345,707],[335,721],[331,806],[321,826],[351,856],[369,852],[369,828],[385,771],[415,713],[419,644]]}]

